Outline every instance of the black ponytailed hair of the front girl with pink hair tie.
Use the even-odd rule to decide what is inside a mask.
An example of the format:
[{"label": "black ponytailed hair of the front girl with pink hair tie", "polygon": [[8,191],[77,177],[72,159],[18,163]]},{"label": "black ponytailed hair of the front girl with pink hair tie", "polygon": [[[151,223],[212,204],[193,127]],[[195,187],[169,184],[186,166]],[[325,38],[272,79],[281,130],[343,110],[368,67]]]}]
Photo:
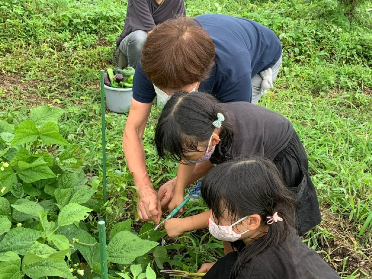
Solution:
[{"label": "black ponytailed hair of the front girl with pink hair tie", "polygon": [[[294,197],[284,186],[276,166],[265,158],[251,158],[219,164],[202,181],[201,193],[215,221],[228,212],[231,224],[240,218],[259,214],[265,222],[278,212],[283,221],[267,226],[267,233],[239,253],[233,272],[238,276],[244,265],[257,254],[281,244],[295,224]],[[226,213],[225,213],[226,214]]]}]

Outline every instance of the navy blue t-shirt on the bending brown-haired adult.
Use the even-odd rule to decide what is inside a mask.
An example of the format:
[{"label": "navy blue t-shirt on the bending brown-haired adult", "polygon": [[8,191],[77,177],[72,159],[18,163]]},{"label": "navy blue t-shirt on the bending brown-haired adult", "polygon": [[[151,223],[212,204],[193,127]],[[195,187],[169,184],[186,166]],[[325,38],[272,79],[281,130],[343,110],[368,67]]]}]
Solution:
[{"label": "navy blue t-shirt on the bending brown-haired adult", "polygon": [[[272,67],[282,53],[278,37],[269,28],[249,19],[227,15],[195,17],[215,45],[216,63],[199,92],[214,94],[221,102],[251,102],[251,78]],[[133,98],[151,103],[154,86],[142,71],[140,62],[133,80]]]}]

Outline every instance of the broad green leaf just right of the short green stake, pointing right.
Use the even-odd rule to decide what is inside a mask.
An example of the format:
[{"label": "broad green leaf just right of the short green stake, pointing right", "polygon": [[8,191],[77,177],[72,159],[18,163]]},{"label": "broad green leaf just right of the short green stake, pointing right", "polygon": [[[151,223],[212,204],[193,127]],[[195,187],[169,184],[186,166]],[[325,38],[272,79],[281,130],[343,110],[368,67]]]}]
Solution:
[{"label": "broad green leaf just right of the short green stake, pointing right", "polygon": [[121,231],[107,246],[107,259],[113,263],[129,264],[157,245],[157,242],[142,240],[129,231]]}]

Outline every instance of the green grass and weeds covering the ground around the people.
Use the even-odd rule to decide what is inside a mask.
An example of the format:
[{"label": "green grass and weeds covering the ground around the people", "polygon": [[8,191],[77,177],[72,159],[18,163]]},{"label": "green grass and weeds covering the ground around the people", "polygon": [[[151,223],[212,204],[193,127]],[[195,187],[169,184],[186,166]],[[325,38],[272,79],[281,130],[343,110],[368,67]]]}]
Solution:
[{"label": "green grass and weeds covering the ground around the people", "polygon": [[[324,221],[304,242],[344,278],[372,278],[371,3],[353,18],[334,0],[186,0],[186,7],[190,16],[251,18],[279,36],[282,69],[260,105],[291,120],[308,152]],[[89,172],[101,179],[99,70],[110,65],[125,11],[122,0],[0,1],[0,117],[22,119],[41,104],[64,108],[62,134],[84,148]],[[158,114],[154,106],[144,136],[155,187],[177,167],[157,160]],[[121,148],[126,116],[106,113],[109,226],[136,214]],[[198,203],[187,214],[203,208]],[[164,241],[173,264],[184,268],[221,255],[221,243],[206,231]]]}]

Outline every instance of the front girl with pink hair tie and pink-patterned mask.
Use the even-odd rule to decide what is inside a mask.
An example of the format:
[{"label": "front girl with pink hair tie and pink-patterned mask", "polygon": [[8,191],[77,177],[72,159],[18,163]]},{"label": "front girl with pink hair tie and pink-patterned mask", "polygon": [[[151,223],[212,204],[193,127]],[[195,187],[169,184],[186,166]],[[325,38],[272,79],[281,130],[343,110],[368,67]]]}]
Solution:
[{"label": "front girl with pink hair tie and pink-patterned mask", "polygon": [[204,279],[340,278],[293,228],[295,199],[271,161],[220,164],[205,176],[201,192],[209,231],[234,249],[203,264],[198,272],[207,272]]}]

